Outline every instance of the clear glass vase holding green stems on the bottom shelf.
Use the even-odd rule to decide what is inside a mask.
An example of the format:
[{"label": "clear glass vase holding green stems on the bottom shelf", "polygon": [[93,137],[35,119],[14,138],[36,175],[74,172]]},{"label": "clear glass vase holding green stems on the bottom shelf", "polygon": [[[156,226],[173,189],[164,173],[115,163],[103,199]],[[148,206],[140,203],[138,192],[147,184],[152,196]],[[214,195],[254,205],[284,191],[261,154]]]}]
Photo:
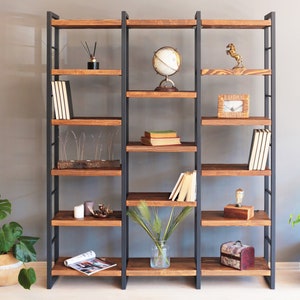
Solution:
[{"label": "clear glass vase holding green stems on the bottom shelf", "polygon": [[165,241],[159,241],[151,249],[150,266],[154,269],[167,269],[170,267],[170,251]]}]

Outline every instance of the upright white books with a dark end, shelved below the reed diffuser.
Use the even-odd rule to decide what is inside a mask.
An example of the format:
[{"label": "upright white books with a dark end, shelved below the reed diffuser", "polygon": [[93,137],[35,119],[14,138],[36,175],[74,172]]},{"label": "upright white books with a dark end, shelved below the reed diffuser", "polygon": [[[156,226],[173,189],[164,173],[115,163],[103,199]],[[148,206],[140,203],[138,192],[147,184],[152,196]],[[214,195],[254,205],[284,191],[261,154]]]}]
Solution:
[{"label": "upright white books with a dark end, shelved below the reed diffuser", "polygon": [[73,118],[70,82],[55,80],[51,85],[55,118],[70,120]]}]

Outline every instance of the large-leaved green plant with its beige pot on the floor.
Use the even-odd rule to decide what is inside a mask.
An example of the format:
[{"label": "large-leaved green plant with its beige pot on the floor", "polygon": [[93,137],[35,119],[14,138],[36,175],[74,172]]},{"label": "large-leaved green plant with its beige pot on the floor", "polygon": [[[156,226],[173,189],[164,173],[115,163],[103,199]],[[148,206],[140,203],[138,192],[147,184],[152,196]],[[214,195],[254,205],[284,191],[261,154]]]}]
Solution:
[{"label": "large-leaved green plant with its beige pot on the floor", "polygon": [[[5,219],[10,214],[10,201],[7,199],[0,199],[0,220]],[[4,277],[7,280],[6,285],[19,282],[23,288],[30,289],[31,285],[35,283],[36,274],[34,269],[32,267],[26,268],[24,263],[36,261],[36,251],[34,249],[34,244],[38,239],[39,238],[37,237],[24,236],[23,228],[17,222],[10,222],[2,225],[2,227],[0,228],[0,259],[2,258],[0,270],[2,274],[6,276]],[[11,263],[12,259],[16,259],[17,263]],[[8,261],[10,263],[7,263]],[[17,269],[19,270],[19,272],[17,272],[16,274],[17,278],[7,279],[7,275],[5,275],[5,272],[10,271],[10,275],[14,276],[14,273],[12,273],[12,271],[13,268],[17,267],[18,264],[20,264],[21,266],[23,265],[23,267],[19,267]],[[5,282],[3,284],[5,284]]]}]

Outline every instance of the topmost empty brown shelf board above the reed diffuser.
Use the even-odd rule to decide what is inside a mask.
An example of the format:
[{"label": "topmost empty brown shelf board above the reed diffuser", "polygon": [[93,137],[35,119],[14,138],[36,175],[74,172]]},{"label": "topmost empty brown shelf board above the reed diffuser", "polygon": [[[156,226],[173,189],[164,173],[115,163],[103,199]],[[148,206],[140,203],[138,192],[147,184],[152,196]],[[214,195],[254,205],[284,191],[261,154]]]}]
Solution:
[{"label": "topmost empty brown shelf board above the reed diffuser", "polygon": [[104,20],[52,20],[53,27],[64,29],[89,29],[89,28],[121,28],[121,20],[104,19]]}]

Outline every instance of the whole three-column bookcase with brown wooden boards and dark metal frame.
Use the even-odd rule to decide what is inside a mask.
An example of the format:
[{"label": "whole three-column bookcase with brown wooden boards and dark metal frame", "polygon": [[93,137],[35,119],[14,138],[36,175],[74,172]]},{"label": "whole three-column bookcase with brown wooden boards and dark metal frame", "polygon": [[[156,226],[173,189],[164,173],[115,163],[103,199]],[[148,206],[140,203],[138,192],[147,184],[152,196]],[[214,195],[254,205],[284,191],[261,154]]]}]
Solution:
[{"label": "whole three-column bookcase with brown wooden boards and dark metal frame", "polygon": [[[202,276],[264,276],[271,288],[275,288],[275,13],[265,16],[264,20],[205,20],[197,12],[194,19],[189,20],[131,20],[126,12],[122,12],[120,20],[63,20],[58,15],[47,13],[47,287],[51,288],[58,276],[82,276],[79,272],[63,265],[64,257],[60,257],[59,228],[67,227],[117,227],[121,230],[121,257],[110,258],[117,266],[98,272],[95,276],[117,276],[121,278],[121,286],[126,288],[131,276],[191,276],[195,278],[196,288],[201,287]],[[179,92],[156,92],[150,90],[129,89],[129,32],[135,29],[185,29],[194,31],[194,90]],[[59,33],[64,29],[118,29],[121,31],[120,69],[85,70],[59,68]],[[264,69],[202,69],[201,68],[201,33],[209,29],[257,29],[264,31],[265,66]],[[54,57],[54,58],[53,58]],[[204,76],[263,76],[265,105],[261,116],[245,119],[221,119],[216,116],[202,115],[201,92],[205,89],[202,82]],[[61,76],[118,76],[121,77],[120,101],[122,113],[120,117],[85,117],[71,120],[57,120],[53,116],[51,81]],[[131,99],[156,98],[190,99],[194,103],[194,138],[176,146],[151,147],[137,141],[129,140],[129,102]],[[157,103],[157,102],[155,102]],[[154,104],[155,105],[155,104]],[[60,126],[119,126],[121,127],[121,166],[112,169],[57,169],[59,160],[59,127]],[[268,165],[264,171],[248,170],[247,164],[204,164],[201,158],[201,130],[205,126],[261,126],[272,131],[271,151]],[[166,192],[132,192],[129,191],[129,162],[133,153],[192,153],[194,168],[197,170],[197,201],[173,202]],[[72,211],[59,209],[59,178],[61,176],[118,176],[121,177],[122,190],[120,211],[114,212],[109,219],[84,220],[73,218]],[[250,220],[224,218],[223,212],[202,210],[206,199],[201,195],[203,177],[207,176],[261,176],[264,178],[264,209],[256,211]],[[137,206],[141,200],[149,206],[172,207],[191,206],[195,212],[194,255],[193,257],[172,257],[171,267],[165,270],[151,269],[149,259],[131,257],[128,249],[130,230],[127,210]],[[203,257],[200,245],[203,227],[261,226],[264,236],[264,256],[255,259],[255,266],[250,270],[238,271],[220,265],[218,257]],[[75,230],[75,229],[74,229]]]}]

